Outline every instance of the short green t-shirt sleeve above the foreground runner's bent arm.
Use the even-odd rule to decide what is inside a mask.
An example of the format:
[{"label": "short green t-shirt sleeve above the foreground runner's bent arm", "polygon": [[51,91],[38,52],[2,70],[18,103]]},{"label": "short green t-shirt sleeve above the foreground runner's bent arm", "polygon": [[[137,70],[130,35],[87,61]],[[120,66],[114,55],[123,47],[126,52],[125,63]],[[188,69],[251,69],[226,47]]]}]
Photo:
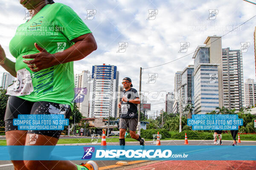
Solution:
[{"label": "short green t-shirt sleeve above the foreground runner's bent arm", "polygon": [[61,32],[68,40],[73,40],[81,35],[92,33],[73,9],[64,4],[61,5],[62,6],[56,13],[56,22],[59,27],[62,27]]}]

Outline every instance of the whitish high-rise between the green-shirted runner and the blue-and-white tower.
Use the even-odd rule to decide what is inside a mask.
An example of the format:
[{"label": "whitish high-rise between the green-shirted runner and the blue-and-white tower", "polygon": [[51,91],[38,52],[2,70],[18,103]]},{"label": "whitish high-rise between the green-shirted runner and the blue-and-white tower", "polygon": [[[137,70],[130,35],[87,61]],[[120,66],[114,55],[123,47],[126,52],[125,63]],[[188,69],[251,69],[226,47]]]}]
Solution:
[{"label": "whitish high-rise between the green-shirted runner and the blue-and-white tower", "polygon": [[91,74],[90,71],[82,71],[80,74],[76,74],[75,77],[75,87],[84,89],[86,88],[86,94],[81,94],[83,96],[83,101],[76,103],[79,111],[82,116],[88,117],[90,111],[89,99],[90,99],[90,83],[91,83]]}]

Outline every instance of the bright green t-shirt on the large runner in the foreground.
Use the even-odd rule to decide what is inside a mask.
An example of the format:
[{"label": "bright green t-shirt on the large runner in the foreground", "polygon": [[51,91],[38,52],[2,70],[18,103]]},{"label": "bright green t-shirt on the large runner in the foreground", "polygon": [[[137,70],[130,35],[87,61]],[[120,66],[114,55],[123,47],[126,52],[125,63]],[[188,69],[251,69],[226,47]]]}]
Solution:
[{"label": "bright green t-shirt on the large runner in the foreground", "polygon": [[73,110],[73,62],[33,72],[23,62],[22,56],[39,53],[35,48],[35,42],[50,54],[61,52],[74,44],[71,40],[88,33],[91,31],[81,18],[62,3],[47,4],[31,20],[21,24],[9,44],[9,49],[16,58],[15,70],[26,68],[32,74],[34,91],[18,97],[31,102],[67,104]]}]

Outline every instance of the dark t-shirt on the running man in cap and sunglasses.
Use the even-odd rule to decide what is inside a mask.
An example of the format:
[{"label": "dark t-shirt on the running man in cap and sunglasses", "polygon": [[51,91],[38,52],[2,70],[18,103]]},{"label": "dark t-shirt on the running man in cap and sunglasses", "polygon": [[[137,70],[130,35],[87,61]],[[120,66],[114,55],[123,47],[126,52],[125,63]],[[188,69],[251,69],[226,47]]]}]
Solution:
[{"label": "dark t-shirt on the running man in cap and sunglasses", "polygon": [[[139,98],[139,94],[135,88],[131,88],[128,91],[125,91],[125,90],[122,91],[122,97],[124,96],[130,100]],[[120,118],[122,119],[138,118],[137,105],[138,104],[122,101]]]}]

